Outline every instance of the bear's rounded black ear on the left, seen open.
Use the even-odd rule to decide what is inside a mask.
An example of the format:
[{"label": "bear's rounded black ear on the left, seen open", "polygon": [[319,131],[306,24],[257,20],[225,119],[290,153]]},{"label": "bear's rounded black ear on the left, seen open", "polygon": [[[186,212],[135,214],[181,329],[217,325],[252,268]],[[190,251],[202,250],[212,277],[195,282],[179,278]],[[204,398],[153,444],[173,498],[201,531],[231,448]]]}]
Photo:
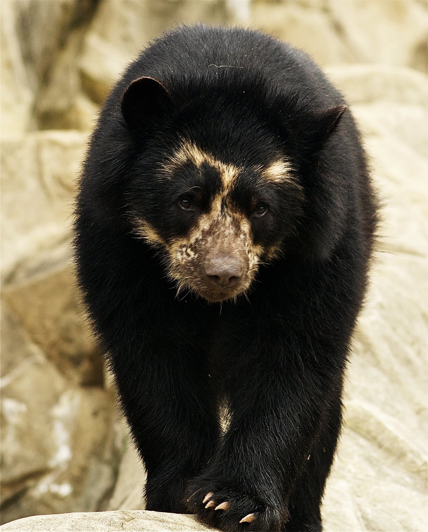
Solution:
[{"label": "bear's rounded black ear on the left, seen open", "polygon": [[122,96],[122,115],[130,130],[141,129],[152,121],[161,120],[172,109],[171,97],[157,79],[135,79]]}]

